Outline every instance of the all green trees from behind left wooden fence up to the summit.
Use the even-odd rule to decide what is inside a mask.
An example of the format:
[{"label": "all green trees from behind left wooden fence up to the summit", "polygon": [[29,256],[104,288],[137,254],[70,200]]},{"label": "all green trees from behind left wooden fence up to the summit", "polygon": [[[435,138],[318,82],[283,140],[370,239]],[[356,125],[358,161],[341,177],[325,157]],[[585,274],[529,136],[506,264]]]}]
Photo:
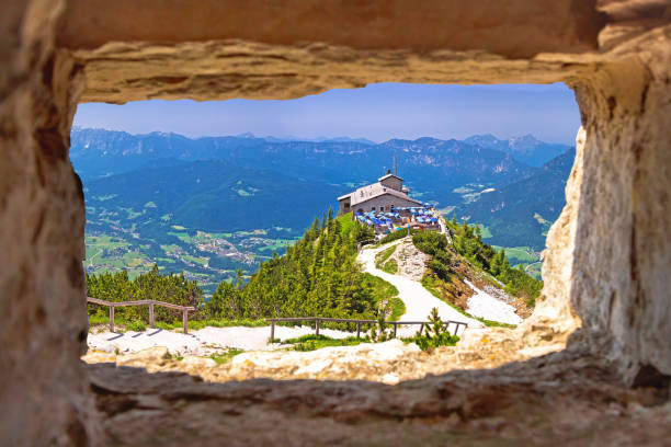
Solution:
[{"label": "all green trees from behind left wooden fence up to the summit", "polygon": [[[371,319],[377,313],[375,283],[365,280],[356,265],[357,242],[373,237],[372,229],[351,217],[334,218],[333,210],[315,218],[303,238],[263,264],[244,284],[238,271],[234,282],[221,282],[209,301],[195,280],[183,274],[162,275],[155,265],[130,279],[126,271],[87,275],[88,294],[109,301],[156,299],[197,311],[190,320],[257,320],[281,317]],[[100,312],[89,305],[90,313]],[[117,308],[120,319],[148,319],[146,306]],[[175,322],[181,312],[155,308],[157,321]]]}]

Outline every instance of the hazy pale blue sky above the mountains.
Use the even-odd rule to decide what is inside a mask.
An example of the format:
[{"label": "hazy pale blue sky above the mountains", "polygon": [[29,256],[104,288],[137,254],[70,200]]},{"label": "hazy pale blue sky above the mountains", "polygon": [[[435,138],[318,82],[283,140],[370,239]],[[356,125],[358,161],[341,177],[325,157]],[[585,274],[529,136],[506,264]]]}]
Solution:
[{"label": "hazy pale blue sky above the mountains", "polygon": [[551,85],[371,84],[291,101],[140,101],[80,104],[75,125],[189,137],[252,133],[275,137],[419,137],[474,134],[572,145],[580,125],[573,92]]}]

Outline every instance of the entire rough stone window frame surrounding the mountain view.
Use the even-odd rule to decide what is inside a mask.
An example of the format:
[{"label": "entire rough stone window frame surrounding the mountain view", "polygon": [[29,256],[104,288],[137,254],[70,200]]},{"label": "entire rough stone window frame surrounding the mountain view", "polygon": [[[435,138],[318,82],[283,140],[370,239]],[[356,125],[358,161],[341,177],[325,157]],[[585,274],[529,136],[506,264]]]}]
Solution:
[{"label": "entire rough stone window frame surrounding the mountain view", "polygon": [[[566,82],[576,90],[584,133],[579,139],[584,135],[584,142],[579,145],[567,185],[567,207],[548,238],[543,273],[547,287],[538,310],[514,333],[512,346],[533,349],[568,339],[567,356],[610,358],[613,370],[628,385],[668,387],[668,1],[317,4],[292,0],[253,8],[237,0],[225,5],[215,0],[197,4],[180,0],[4,3],[0,15],[0,247],[4,254],[0,260],[0,405],[12,411],[0,419],[2,444],[84,445],[96,439],[99,415],[90,404],[87,371],[77,359],[87,336],[83,197],[68,161],[69,128],[78,101],[288,99],[382,81]],[[575,332],[576,328],[580,330]],[[551,433],[531,431],[531,437],[516,438],[527,443],[553,433],[557,439],[575,440],[567,439],[566,433],[573,433],[580,421],[594,425],[580,432],[585,437],[573,444],[603,440],[594,438],[595,433],[604,434],[603,444],[614,444],[619,435],[639,444],[666,439],[655,438],[668,427],[662,416],[656,419],[661,413],[648,413],[650,419],[639,421],[639,413],[616,404],[618,416],[603,413],[606,416],[596,420],[580,406],[584,399],[576,389],[598,397],[604,412],[611,409],[604,402],[623,394],[612,385],[616,379],[610,373],[596,368],[600,373],[590,376],[584,363],[571,358],[575,363],[553,364],[547,374],[537,371],[542,360],[511,365],[508,371],[526,377],[521,387],[507,382],[510,376],[501,370],[459,374],[459,380],[477,385],[481,391],[476,393],[462,392],[458,383],[445,379],[447,386],[419,386],[433,390],[427,391],[432,393],[428,400],[402,393],[393,394],[396,400],[366,400],[364,387],[357,396],[365,404],[355,410],[345,405],[351,400],[341,398],[345,391],[338,386],[310,385],[297,391],[270,382],[230,385],[227,392],[237,396],[234,399],[206,390],[184,391],[181,379],[162,376],[156,382],[143,377],[137,386],[144,383],[151,391],[140,392],[128,391],[126,380],[137,377],[121,368],[105,376],[106,381],[94,379],[93,383],[99,409],[106,415],[105,436],[113,436],[114,444],[147,444],[151,437],[146,427],[152,422],[169,425],[172,435],[183,428],[180,436],[187,436],[198,421],[212,428],[203,431],[208,435],[230,433],[227,421],[235,421],[239,434],[241,424],[252,421],[249,439],[255,444],[262,440],[260,426],[276,433],[271,428],[280,425],[294,427],[283,433],[289,444],[371,435],[366,429],[373,426],[382,435],[366,442],[382,440],[380,436],[400,440],[398,429],[390,428],[408,421],[410,428],[403,436],[422,435],[429,443],[439,436],[425,428],[429,422],[450,417],[459,420],[460,428],[485,425],[500,427],[500,434],[520,434],[515,427],[535,423],[531,416],[518,419],[524,409],[524,414],[533,415],[547,410],[555,415],[555,425],[575,422],[571,429],[558,434],[541,424]],[[580,382],[571,368],[594,379]],[[502,379],[496,379],[497,374]],[[157,389],[159,382],[166,385],[161,380],[171,378],[175,380],[171,386]],[[115,380],[125,385],[115,388]],[[610,385],[600,387],[601,381]],[[359,389],[359,385],[342,387]],[[137,399],[127,398],[133,393]],[[535,400],[536,396],[547,399]],[[254,400],[265,403],[244,411],[237,405]],[[209,405],[215,401],[216,414],[225,414],[224,421],[198,419],[212,414]],[[524,404],[531,406],[519,406]],[[350,410],[337,411],[345,406]],[[179,408],[187,408],[190,417],[181,421]],[[352,414],[382,416],[377,425],[359,432],[337,422]],[[469,425],[474,414],[485,416]],[[420,425],[413,425],[416,417]],[[122,426],[123,433],[118,432]],[[332,428],[331,437],[310,437],[323,435],[323,427]],[[447,431],[450,425],[440,427]],[[243,437],[237,439],[243,443]]]}]

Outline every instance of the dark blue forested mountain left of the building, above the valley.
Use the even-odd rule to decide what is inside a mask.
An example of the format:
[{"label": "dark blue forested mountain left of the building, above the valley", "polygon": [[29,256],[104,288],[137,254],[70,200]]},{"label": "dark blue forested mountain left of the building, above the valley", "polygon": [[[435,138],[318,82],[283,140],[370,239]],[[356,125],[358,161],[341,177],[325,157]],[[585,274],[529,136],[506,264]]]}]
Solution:
[{"label": "dark blue forested mountain left of the building, above the valley", "polygon": [[157,162],[87,182],[87,206],[141,211],[140,227],[169,216],[171,222],[213,232],[283,227],[300,233],[345,191],[229,161],[162,161],[168,165]]}]

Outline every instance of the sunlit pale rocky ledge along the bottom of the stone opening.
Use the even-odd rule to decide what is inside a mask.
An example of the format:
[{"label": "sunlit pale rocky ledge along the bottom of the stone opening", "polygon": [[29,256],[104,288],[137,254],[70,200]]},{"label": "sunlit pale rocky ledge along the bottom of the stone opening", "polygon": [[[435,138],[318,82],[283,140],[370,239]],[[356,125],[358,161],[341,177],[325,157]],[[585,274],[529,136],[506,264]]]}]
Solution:
[{"label": "sunlit pale rocky ledge along the bottom of the stone opening", "polygon": [[395,385],[455,369],[494,368],[565,347],[562,343],[525,347],[516,333],[508,329],[469,329],[460,337],[456,346],[430,353],[420,351],[414,344],[391,340],[311,352],[254,351],[238,354],[224,365],[216,365],[206,357],[181,358],[164,346],[120,354],[91,351],[82,359],[89,364],[145,368],[149,373],[182,371],[214,382],[268,378],[368,380]]}]

